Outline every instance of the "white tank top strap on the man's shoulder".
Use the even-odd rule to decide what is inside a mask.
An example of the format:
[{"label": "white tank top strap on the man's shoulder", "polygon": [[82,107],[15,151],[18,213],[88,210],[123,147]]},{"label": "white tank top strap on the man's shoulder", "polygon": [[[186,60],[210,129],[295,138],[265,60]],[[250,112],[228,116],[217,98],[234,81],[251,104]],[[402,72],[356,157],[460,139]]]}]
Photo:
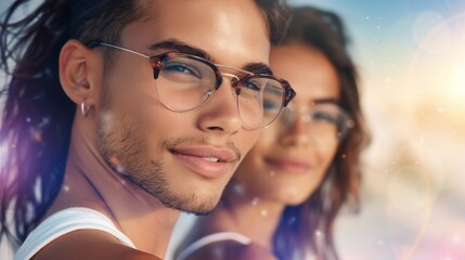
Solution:
[{"label": "white tank top strap on the man's shoulder", "polygon": [[17,250],[14,260],[29,260],[49,243],[73,231],[99,230],[112,234],[126,246],[134,244],[105,214],[90,208],[67,208],[40,223],[29,233]]}]

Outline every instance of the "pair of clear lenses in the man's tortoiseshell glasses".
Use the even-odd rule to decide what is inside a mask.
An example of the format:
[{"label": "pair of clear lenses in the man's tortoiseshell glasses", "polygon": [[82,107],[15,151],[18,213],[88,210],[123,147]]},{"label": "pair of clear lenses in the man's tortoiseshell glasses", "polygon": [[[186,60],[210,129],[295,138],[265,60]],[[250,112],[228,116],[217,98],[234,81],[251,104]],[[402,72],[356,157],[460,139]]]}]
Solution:
[{"label": "pair of clear lenses in the man's tortoiseshell glasses", "polygon": [[[159,100],[171,110],[186,112],[202,105],[217,87],[211,66],[189,56],[163,61],[156,79]],[[281,113],[285,90],[280,81],[258,75],[235,82],[237,108],[246,128],[257,129],[272,122]]]}]

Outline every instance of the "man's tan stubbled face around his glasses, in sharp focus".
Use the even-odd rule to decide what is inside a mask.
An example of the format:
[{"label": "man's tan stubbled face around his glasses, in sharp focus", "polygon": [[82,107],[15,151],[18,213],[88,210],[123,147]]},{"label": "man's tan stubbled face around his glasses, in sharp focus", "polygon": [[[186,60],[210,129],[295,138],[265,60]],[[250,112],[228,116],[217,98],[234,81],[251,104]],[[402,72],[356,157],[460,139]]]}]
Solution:
[{"label": "man's tan stubbled face around his glasses, in sharp focus", "polygon": [[[146,5],[145,16],[122,30],[119,46],[145,55],[199,49],[212,63],[243,69],[268,64],[266,23],[254,1],[170,0]],[[179,43],[189,48],[180,50]],[[154,44],[164,48],[151,48]],[[96,107],[105,160],[168,207],[212,210],[259,136],[258,130],[243,127],[230,78],[223,79],[201,107],[176,113],[160,103],[148,61],[117,52]]]}]

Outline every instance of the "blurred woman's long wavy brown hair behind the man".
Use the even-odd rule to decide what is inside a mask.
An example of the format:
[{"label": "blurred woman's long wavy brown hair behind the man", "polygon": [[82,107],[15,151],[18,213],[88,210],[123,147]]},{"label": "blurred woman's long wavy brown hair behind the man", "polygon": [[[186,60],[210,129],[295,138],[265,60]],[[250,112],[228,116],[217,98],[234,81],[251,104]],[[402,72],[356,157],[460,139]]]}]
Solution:
[{"label": "blurred woman's long wavy brown hair behind the man", "polygon": [[336,156],[319,188],[301,205],[286,207],[273,237],[274,255],[281,259],[337,259],[333,226],[346,203],[359,207],[360,154],[367,131],[359,99],[358,75],[347,50],[340,18],[313,8],[295,8],[283,44],[306,44],[321,51],[335,67],[340,82],[340,106],[349,113],[354,128],[339,143]]}]

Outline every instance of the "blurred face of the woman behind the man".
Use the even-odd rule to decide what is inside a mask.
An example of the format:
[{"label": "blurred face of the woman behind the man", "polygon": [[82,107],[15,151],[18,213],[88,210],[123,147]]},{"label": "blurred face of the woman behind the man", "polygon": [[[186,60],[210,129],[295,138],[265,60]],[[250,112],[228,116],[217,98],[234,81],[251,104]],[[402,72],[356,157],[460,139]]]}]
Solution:
[{"label": "blurred face of the woman behind the man", "polygon": [[[297,92],[292,110],[264,129],[237,169],[235,185],[248,197],[297,205],[320,185],[337,150],[335,126],[328,120],[337,109],[337,72],[313,48],[289,44],[272,49],[273,72]],[[293,114],[295,120],[288,120]],[[336,132],[335,132],[336,131]]]}]

